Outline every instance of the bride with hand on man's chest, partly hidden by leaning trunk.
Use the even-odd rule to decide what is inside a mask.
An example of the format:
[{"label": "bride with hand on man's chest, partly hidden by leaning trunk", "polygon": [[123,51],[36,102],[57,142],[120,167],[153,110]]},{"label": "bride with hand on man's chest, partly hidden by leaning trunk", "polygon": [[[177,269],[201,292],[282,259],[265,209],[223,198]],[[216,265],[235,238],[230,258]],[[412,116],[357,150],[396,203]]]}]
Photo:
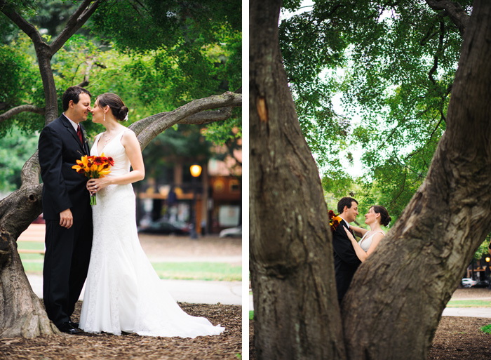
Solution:
[{"label": "bride with hand on man's chest, partly hidden by leaning trunk", "polygon": [[384,206],[375,205],[365,214],[365,224],[370,226],[370,231],[363,229],[363,227],[353,225],[350,227],[358,236],[363,236],[360,241],[356,242],[354,236],[344,227],[358,259],[363,262],[373,253],[379,242],[385,236],[385,232],[380,225],[387,226],[389,222],[391,222],[391,217],[387,209]]}]

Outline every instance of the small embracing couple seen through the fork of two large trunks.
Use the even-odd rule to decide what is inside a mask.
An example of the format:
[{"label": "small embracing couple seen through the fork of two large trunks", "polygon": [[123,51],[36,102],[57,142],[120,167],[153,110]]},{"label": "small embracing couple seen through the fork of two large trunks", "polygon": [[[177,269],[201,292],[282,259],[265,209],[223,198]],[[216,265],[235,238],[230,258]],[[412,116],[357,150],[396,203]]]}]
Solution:
[{"label": "small embracing couple seen through the fork of two large trunks", "polygon": [[[387,226],[391,217],[384,206],[372,206],[365,214],[365,224],[370,230],[350,225],[358,215],[358,201],[344,197],[337,203],[339,218],[342,220],[332,232],[332,250],[336,276],[337,300],[341,304],[348,291],[351,279],[361,262],[375,250],[385,233],[380,225]],[[362,236],[356,241],[355,234]]]}]

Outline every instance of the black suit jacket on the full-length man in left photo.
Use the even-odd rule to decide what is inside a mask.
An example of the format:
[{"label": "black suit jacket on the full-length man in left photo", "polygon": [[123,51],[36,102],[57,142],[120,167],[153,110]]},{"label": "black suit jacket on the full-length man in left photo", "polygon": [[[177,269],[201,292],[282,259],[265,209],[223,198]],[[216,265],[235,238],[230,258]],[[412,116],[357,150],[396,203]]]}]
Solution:
[{"label": "black suit jacket on the full-length man in left photo", "polygon": [[[89,154],[88,142],[83,135],[80,142],[74,127],[65,115],[45,126],[39,135],[39,164],[43,180],[43,217],[60,219],[67,208],[74,216],[90,208],[90,195],[86,189],[88,179],[72,166],[83,155]],[[89,205],[88,205],[89,204]]]}]

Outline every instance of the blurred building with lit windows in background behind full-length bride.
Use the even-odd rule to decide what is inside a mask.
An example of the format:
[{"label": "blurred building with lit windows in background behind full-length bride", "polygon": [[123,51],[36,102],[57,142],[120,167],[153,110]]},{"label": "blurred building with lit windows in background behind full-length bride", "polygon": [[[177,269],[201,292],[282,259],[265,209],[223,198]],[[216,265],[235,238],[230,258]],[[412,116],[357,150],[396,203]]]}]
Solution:
[{"label": "blurred building with lit windows in background behind full-length bride", "polygon": [[195,162],[175,162],[166,168],[166,179],[149,178],[137,192],[137,222],[147,225],[159,219],[193,222],[198,234],[217,234],[241,224],[242,150],[225,154],[223,160],[210,159],[201,166],[197,178],[191,176]]}]

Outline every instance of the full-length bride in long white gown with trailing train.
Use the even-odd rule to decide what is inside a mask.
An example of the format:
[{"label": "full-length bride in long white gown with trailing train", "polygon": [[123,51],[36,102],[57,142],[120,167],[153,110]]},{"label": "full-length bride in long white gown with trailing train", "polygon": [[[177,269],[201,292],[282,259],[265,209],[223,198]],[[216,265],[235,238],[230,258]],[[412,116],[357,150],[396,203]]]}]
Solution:
[{"label": "full-length bride in long white gown with trailing train", "polygon": [[105,93],[91,112],[106,131],[97,135],[90,154],[112,156],[114,166],[105,178],[87,183],[97,205],[92,208],[93,245],[79,328],[181,338],[222,333],[220,325],[190,316],[177,305],[140,246],[131,183],[144,178],[142,152],[135,133],[118,122],[126,118],[128,107],[118,95]]}]

